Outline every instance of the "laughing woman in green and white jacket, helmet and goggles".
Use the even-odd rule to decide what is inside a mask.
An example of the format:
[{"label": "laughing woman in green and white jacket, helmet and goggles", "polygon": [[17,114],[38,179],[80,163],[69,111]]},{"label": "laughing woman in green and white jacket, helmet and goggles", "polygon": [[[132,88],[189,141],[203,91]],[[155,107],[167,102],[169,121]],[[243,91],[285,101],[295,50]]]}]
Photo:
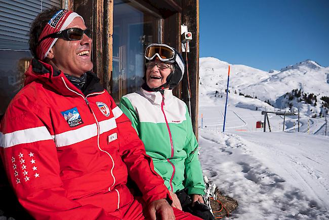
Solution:
[{"label": "laughing woman in green and white jacket, helmet and goggles", "polygon": [[165,180],[173,206],[182,209],[174,194],[182,192],[191,197],[193,206],[196,201],[203,203],[198,143],[187,106],[172,90],[182,80],[184,61],[174,48],[163,44],[148,46],[145,58],[145,83],[139,91],[122,97],[119,107],[144,142],[154,170]]}]

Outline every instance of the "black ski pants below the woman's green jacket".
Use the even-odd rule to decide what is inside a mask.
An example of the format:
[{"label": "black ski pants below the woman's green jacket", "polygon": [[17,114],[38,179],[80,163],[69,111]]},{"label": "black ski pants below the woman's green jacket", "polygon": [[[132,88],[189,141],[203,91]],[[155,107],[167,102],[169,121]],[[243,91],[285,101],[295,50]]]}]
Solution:
[{"label": "black ski pants below the woman's green jacket", "polygon": [[181,203],[183,211],[189,212],[205,220],[215,219],[207,205],[196,202],[192,207],[192,199],[189,195],[187,195],[186,190],[177,191],[175,194]]}]

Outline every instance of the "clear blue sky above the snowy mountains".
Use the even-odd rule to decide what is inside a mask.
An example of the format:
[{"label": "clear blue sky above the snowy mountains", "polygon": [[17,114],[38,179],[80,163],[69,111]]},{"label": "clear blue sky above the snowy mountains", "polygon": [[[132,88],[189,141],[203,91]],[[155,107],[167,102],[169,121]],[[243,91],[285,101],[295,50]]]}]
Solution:
[{"label": "clear blue sky above the snowy mountains", "polygon": [[200,57],[262,70],[329,66],[329,0],[199,0]]}]

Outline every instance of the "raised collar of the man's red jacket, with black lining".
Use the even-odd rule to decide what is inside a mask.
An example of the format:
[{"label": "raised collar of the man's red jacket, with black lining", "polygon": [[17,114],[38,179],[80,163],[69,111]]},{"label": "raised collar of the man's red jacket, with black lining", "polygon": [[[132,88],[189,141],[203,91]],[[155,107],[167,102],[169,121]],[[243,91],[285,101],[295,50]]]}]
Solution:
[{"label": "raised collar of the man's red jacket, with black lining", "polygon": [[45,88],[56,91],[64,96],[85,96],[95,92],[102,92],[104,89],[99,83],[96,75],[89,71],[87,72],[88,82],[85,94],[76,88],[64,75],[61,70],[55,70],[52,65],[40,60],[32,59],[30,65],[25,72],[24,86],[37,81],[45,85]]}]

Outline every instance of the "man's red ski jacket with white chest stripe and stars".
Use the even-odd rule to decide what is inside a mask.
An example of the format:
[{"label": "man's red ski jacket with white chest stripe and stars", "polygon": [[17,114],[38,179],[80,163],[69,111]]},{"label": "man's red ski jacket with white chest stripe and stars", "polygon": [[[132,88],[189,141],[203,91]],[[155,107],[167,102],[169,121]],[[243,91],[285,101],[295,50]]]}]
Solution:
[{"label": "man's red ski jacket with white chest stripe and stars", "polygon": [[83,94],[49,64],[32,60],[25,86],[0,124],[0,154],[19,202],[37,219],[112,219],[133,200],[169,198],[142,141],[88,72]]}]

